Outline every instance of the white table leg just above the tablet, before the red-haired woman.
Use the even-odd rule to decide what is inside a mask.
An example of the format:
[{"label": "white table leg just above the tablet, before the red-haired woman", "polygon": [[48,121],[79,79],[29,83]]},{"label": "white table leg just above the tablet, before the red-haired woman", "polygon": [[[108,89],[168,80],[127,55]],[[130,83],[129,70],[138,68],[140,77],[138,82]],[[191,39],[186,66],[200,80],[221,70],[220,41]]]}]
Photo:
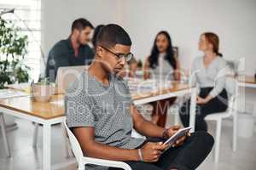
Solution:
[{"label": "white table leg just above the tablet, before the red-haired woman", "polygon": [[195,132],[195,110],[196,110],[196,88],[192,89],[190,99],[190,116],[189,116],[189,127],[192,127],[191,132]]}]

